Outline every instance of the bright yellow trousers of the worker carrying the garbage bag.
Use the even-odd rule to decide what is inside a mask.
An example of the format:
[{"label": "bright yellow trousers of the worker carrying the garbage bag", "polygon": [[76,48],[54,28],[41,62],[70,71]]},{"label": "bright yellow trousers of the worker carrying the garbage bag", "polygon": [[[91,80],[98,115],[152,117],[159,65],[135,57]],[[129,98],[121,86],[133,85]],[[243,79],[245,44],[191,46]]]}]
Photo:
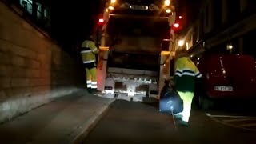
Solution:
[{"label": "bright yellow trousers of the worker carrying the garbage bag", "polygon": [[182,121],[189,122],[190,119],[190,111],[191,111],[191,104],[194,97],[193,92],[181,92],[178,91],[179,96],[183,100],[183,111],[181,113],[182,115]]}]

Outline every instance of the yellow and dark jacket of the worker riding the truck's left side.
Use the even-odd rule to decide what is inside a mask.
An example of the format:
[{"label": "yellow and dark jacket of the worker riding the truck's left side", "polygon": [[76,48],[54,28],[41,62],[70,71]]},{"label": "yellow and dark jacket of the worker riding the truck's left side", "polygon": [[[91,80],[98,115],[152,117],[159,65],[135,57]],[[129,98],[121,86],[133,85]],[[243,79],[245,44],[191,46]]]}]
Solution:
[{"label": "yellow and dark jacket of the worker riding the truck's left side", "polygon": [[80,54],[82,55],[83,63],[96,62],[95,54],[98,54],[98,48],[94,42],[86,40],[82,42]]}]

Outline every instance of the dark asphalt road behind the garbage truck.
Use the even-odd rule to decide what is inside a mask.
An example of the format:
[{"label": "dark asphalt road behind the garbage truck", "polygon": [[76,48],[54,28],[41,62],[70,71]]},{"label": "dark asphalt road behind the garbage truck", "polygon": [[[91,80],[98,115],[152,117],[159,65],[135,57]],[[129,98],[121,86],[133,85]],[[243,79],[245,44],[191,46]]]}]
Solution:
[{"label": "dark asphalt road behind the garbage truck", "polygon": [[[157,104],[117,100],[83,143],[256,143],[256,117],[193,108],[190,126],[174,126]],[[223,121],[224,120],[224,121]],[[246,126],[246,124],[249,124]]]}]

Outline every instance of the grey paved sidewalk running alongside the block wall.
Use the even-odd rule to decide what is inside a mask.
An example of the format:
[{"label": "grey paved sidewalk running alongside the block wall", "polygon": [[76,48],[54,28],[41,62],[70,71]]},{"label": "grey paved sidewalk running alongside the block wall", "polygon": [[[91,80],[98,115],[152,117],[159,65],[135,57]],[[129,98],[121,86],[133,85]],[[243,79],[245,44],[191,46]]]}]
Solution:
[{"label": "grey paved sidewalk running alongside the block wall", "polygon": [[78,143],[114,99],[81,90],[0,125],[0,143]]}]

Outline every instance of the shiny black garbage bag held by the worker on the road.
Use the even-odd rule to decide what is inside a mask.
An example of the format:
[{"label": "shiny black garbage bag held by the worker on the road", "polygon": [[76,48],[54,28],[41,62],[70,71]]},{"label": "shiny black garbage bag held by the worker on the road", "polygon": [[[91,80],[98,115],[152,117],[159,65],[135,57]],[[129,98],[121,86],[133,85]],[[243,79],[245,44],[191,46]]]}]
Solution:
[{"label": "shiny black garbage bag held by the worker on the road", "polygon": [[169,81],[165,82],[160,93],[159,111],[165,114],[177,114],[183,111],[183,101]]}]

